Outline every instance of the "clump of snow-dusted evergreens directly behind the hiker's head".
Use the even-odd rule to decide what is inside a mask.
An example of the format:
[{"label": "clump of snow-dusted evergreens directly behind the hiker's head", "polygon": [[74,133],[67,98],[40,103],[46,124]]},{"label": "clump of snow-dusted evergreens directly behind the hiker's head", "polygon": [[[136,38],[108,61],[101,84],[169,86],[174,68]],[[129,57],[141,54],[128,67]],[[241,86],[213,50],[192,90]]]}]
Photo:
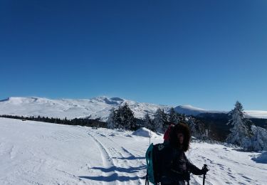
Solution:
[{"label": "clump of snow-dusted evergreens directly behind the hiker's head", "polygon": [[107,126],[110,129],[130,129],[135,130],[140,127],[146,127],[153,132],[164,133],[170,124],[179,124],[184,122],[189,125],[192,135],[196,137],[203,137],[205,135],[204,123],[197,120],[195,117],[186,117],[175,112],[172,107],[169,112],[163,109],[157,109],[154,115],[150,116],[148,113],[142,118],[140,123],[135,122],[134,112],[130,109],[129,105],[125,103],[115,110],[110,110]]}]

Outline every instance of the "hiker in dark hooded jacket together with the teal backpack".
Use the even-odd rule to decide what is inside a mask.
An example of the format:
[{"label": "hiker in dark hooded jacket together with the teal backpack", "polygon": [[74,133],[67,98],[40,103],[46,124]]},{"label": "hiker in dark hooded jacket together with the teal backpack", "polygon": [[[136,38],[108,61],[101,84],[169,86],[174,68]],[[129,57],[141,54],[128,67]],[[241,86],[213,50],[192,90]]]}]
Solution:
[{"label": "hiker in dark hooded jacket together with the teal backpack", "polygon": [[209,171],[206,165],[199,169],[189,162],[184,154],[189,149],[189,142],[189,127],[184,123],[179,123],[172,127],[169,142],[150,145],[146,153],[146,159],[149,159],[147,160],[148,169],[150,169],[147,171],[147,182],[150,181],[152,184],[160,182],[161,185],[185,185],[186,181],[189,184],[190,173],[205,175]]}]

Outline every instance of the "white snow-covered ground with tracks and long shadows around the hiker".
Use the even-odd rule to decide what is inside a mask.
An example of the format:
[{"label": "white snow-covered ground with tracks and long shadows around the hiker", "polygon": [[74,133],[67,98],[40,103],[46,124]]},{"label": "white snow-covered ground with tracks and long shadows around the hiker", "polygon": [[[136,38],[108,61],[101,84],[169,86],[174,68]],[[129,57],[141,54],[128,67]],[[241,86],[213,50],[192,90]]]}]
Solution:
[{"label": "white snow-covered ground with tracks and long shadows around the hiker", "polygon": [[[0,118],[0,184],[145,184],[148,145],[132,132]],[[209,166],[206,184],[267,184],[265,156],[198,142],[187,152]]]}]

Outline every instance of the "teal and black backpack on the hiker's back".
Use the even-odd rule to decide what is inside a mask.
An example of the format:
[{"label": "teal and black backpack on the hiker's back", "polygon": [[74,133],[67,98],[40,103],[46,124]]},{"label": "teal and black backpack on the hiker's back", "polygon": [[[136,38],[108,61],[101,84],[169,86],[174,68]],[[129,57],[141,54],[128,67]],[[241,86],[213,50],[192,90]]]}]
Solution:
[{"label": "teal and black backpack on the hiker's back", "polygon": [[147,175],[145,184],[159,184],[160,181],[160,168],[159,168],[159,152],[164,148],[164,144],[150,144],[147,152],[145,153],[145,159],[147,162]]}]

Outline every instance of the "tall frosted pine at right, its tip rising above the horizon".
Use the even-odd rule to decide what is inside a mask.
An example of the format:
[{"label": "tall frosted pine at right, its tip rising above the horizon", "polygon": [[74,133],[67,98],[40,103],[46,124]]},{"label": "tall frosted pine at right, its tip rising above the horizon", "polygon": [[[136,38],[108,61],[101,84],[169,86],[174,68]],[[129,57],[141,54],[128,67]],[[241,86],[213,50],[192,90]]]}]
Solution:
[{"label": "tall frosted pine at right, its tip rising above the horizon", "polygon": [[247,125],[248,121],[244,117],[243,106],[239,101],[236,102],[234,110],[231,110],[229,115],[231,119],[227,125],[230,124],[233,125],[233,127],[230,129],[231,133],[226,138],[226,142],[248,148],[250,145],[249,137],[251,137],[251,132]]}]

